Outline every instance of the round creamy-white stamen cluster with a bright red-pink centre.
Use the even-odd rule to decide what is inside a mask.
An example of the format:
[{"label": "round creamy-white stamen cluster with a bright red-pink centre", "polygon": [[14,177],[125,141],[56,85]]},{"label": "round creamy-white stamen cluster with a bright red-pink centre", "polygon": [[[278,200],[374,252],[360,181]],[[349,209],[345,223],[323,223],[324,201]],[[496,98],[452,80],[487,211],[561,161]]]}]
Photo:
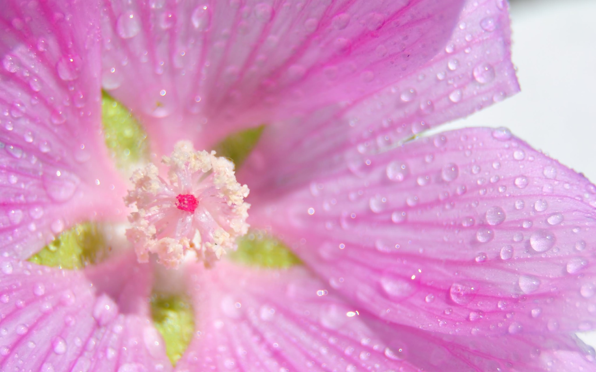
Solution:
[{"label": "round creamy-white stamen cluster with a bright red-pink centre", "polygon": [[192,249],[206,265],[230,249],[245,235],[250,204],[244,202],[249,188],[234,175],[234,163],[218,158],[215,151],[194,151],[187,141],[176,143],[170,157],[166,182],[153,164],[136,170],[134,189],[125,202],[136,205],[126,231],[139,262],[157,254],[166,267],[178,266]]}]

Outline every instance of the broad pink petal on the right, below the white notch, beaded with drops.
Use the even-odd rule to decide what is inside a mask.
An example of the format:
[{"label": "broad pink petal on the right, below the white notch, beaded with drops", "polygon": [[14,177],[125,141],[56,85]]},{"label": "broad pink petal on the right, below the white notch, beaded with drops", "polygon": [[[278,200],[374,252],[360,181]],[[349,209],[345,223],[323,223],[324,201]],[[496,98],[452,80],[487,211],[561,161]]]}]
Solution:
[{"label": "broad pink petal on the right, below the white notch, beaded with drops", "polygon": [[512,137],[407,142],[263,205],[332,287],[388,321],[494,335],[594,329],[596,186]]}]

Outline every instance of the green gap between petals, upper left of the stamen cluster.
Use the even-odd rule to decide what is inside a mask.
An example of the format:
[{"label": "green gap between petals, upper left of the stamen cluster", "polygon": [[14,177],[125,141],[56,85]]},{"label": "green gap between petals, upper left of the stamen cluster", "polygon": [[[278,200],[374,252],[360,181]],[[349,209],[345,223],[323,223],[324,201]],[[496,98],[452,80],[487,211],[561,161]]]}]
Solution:
[{"label": "green gap between petals, upper left of the stamen cluster", "polygon": [[147,134],[131,111],[105,92],[101,98],[101,121],[105,145],[118,167],[147,158]]}]

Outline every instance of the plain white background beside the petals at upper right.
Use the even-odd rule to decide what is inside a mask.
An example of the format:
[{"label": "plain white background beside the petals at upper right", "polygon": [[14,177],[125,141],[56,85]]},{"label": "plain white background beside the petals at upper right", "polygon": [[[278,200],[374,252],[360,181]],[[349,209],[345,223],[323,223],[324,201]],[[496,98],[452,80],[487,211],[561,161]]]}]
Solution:
[{"label": "plain white background beside the petals at upper right", "polygon": [[522,92],[440,130],[508,127],[596,181],[596,1],[512,0],[511,28]]}]

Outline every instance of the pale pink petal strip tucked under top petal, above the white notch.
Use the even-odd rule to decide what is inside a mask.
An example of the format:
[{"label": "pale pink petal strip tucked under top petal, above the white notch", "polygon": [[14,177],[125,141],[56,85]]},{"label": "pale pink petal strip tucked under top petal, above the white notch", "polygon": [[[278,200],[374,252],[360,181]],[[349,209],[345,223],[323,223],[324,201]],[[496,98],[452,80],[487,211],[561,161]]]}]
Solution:
[{"label": "pale pink petal strip tucked under top petal, above the white notch", "polygon": [[[310,182],[329,169],[361,167],[365,165],[361,154],[374,154],[519,91],[511,64],[507,2],[466,1],[448,35],[450,39],[442,40],[440,51],[431,60],[409,67],[403,74],[396,74],[396,68],[387,70],[394,74],[383,75],[387,86],[375,90],[374,95],[358,87],[337,85],[361,94],[319,110],[291,100],[297,102],[300,112],[263,133],[239,179],[254,195],[259,187],[271,192],[272,186],[287,188]],[[375,75],[385,73],[380,67],[373,71]],[[318,89],[320,95],[329,93],[321,86]],[[306,97],[321,101],[318,93],[308,92]]]}]

